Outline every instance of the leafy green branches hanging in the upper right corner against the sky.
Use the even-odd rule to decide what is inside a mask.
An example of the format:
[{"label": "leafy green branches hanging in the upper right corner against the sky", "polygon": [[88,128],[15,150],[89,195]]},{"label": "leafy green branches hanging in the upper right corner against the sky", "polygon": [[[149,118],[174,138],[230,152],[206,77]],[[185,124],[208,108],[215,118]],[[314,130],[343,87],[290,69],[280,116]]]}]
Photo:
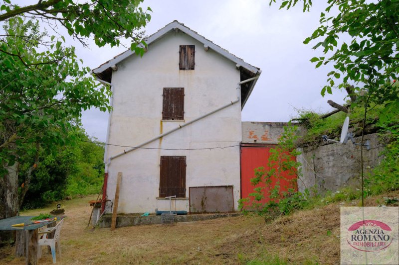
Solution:
[{"label": "leafy green branches hanging in the upper right corner against the sky", "polygon": [[[270,3],[275,2],[271,0]],[[282,0],[280,8],[303,3],[309,10],[311,0]],[[320,25],[304,43],[316,41],[325,56],[313,57],[316,68],[333,64],[327,85],[321,91],[355,85],[360,94],[356,103],[370,106],[384,104],[381,118],[398,115],[398,86],[393,83],[399,73],[399,1],[397,0],[328,0],[320,14]],[[330,13],[335,15],[329,16]],[[349,39],[349,42],[341,39]]]}]

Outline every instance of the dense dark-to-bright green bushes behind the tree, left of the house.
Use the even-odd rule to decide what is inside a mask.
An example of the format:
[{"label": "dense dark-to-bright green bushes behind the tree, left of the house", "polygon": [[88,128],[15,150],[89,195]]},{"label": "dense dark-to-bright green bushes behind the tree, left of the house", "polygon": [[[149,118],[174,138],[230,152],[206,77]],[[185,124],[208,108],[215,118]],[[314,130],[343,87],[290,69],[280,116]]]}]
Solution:
[{"label": "dense dark-to-bright green bushes behind the tree, left of the house", "polygon": [[[32,172],[22,208],[43,207],[67,195],[73,197],[100,191],[104,177],[103,146],[94,143],[78,126],[70,133],[77,138],[75,145],[58,146],[51,154],[40,150],[38,166]],[[26,169],[34,163],[31,157],[25,157],[23,161],[18,177],[19,189],[25,184]]]}]

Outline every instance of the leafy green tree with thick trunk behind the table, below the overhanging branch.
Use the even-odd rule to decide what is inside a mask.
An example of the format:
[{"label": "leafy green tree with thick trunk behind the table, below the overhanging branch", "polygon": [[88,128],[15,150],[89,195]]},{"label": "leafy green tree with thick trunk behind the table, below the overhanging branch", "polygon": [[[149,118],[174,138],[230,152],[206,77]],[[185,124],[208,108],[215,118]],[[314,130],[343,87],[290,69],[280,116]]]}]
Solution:
[{"label": "leafy green tree with thick trunk behind the table, below the overhanging branch", "polygon": [[[82,109],[110,109],[108,88],[97,85],[88,68],[81,68],[73,47],[60,40],[40,51],[38,22],[16,17],[4,26],[0,43],[0,219],[16,215],[37,168],[39,151],[56,152],[73,143],[73,120]],[[27,38],[14,37],[26,36]],[[9,53],[18,54],[19,57]],[[18,200],[18,172],[23,158],[33,158],[26,169]]]}]

